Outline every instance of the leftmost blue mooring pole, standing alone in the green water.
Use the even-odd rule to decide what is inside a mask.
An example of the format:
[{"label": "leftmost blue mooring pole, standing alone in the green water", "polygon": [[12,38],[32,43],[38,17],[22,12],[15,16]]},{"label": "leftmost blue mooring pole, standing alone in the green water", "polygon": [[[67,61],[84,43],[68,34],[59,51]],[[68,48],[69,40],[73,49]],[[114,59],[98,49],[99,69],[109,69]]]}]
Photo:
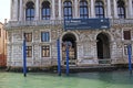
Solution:
[{"label": "leftmost blue mooring pole, standing alone in the green water", "polygon": [[25,40],[23,40],[23,76],[27,77],[27,52],[25,52]]}]

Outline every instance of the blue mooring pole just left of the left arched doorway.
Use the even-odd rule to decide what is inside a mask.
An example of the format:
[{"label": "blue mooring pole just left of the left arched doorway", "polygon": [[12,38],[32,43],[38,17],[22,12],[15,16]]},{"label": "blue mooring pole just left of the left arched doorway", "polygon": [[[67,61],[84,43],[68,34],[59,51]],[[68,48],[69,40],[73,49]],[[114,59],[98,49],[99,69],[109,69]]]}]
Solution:
[{"label": "blue mooring pole just left of the left arched doorway", "polygon": [[61,76],[61,62],[60,62],[60,40],[57,41],[58,46],[58,75]]}]

